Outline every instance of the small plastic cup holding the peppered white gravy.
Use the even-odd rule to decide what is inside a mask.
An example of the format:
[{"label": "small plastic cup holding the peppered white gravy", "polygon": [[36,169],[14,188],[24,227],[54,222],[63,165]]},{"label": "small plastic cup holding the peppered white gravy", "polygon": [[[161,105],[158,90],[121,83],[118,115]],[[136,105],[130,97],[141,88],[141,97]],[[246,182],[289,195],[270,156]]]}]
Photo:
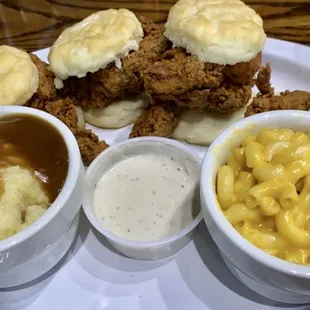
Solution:
[{"label": "small plastic cup holding the peppered white gravy", "polygon": [[[107,238],[109,243],[125,256],[139,260],[157,260],[168,257],[181,250],[192,239],[194,229],[202,220],[201,211],[194,221],[178,234],[172,235],[163,240],[150,242],[132,241],[114,235],[103,227],[93,212],[95,184],[117,162],[124,160],[124,151],[126,152],[126,156],[143,153],[159,153],[177,157],[182,161],[190,161],[191,164],[197,164],[198,174],[201,159],[195,151],[178,141],[158,137],[143,137],[130,139],[109,147],[93,161],[86,171],[86,188],[83,199],[83,208],[89,221]],[[117,188],[115,189],[115,194],[117,195]]]}]

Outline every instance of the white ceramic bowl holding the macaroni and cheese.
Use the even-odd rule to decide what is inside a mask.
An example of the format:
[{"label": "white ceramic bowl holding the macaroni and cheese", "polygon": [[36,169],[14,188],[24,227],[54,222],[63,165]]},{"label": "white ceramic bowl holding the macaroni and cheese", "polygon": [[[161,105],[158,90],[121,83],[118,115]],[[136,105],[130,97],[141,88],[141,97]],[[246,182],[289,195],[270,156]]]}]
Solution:
[{"label": "white ceramic bowl holding the macaroni and cheese", "polygon": [[204,220],[229,269],[249,288],[272,300],[310,302],[310,267],[275,258],[244,239],[218,207],[215,179],[218,168],[242,140],[261,128],[290,128],[310,132],[310,112],[274,111],[245,118],[226,129],[212,143],[201,169]]}]

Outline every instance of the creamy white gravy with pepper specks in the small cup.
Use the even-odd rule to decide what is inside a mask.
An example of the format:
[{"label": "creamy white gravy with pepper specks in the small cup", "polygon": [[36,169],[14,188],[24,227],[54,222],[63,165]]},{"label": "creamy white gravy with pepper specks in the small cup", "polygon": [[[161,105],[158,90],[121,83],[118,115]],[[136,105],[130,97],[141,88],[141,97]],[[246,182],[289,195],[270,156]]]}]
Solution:
[{"label": "creamy white gravy with pepper specks in the small cup", "polygon": [[164,239],[200,211],[199,173],[177,158],[142,154],[118,162],[97,183],[94,212],[113,234],[136,241]]}]

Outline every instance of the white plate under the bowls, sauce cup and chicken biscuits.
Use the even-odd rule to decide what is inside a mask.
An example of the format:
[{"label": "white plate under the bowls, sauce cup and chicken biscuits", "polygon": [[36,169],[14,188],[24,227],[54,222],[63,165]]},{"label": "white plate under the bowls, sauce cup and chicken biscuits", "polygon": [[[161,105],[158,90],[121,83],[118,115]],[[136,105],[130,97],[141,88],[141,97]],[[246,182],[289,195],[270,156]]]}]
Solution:
[{"label": "white plate under the bowls, sauce cup and chicken biscuits", "polygon": [[[46,61],[47,53],[45,49],[36,54]],[[306,46],[267,40],[263,62],[271,63],[277,92],[310,91],[309,58]],[[94,131],[114,144],[127,139],[130,128]],[[205,149],[196,149],[203,155]],[[0,309],[309,310],[310,306],[279,304],[244,287],[224,265],[203,224],[195,239],[174,257],[139,262],[111,249],[82,214],[76,241],[62,262],[34,283],[1,290]]]}]

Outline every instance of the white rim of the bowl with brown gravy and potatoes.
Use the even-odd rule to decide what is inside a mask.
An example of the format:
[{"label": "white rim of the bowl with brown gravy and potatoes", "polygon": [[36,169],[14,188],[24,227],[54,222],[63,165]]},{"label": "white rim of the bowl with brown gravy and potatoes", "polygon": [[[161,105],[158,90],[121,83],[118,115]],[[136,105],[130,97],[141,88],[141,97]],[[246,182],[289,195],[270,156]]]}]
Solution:
[{"label": "white rim of the bowl with brown gravy and potatoes", "polygon": [[21,230],[20,232],[0,241],[0,251],[6,251],[13,246],[16,246],[25,240],[29,239],[42,228],[44,228],[58,212],[63,208],[67,200],[70,198],[77,181],[79,179],[80,168],[81,168],[81,155],[77,144],[77,141],[70,131],[70,129],[59,119],[52,116],[51,114],[40,111],[30,107],[24,106],[0,106],[0,119],[4,116],[9,115],[30,115],[38,117],[45,122],[48,122],[54,128],[58,130],[60,135],[65,141],[68,150],[68,172],[65,183],[58,194],[55,201],[50,207],[44,212],[40,218],[34,223]]}]

